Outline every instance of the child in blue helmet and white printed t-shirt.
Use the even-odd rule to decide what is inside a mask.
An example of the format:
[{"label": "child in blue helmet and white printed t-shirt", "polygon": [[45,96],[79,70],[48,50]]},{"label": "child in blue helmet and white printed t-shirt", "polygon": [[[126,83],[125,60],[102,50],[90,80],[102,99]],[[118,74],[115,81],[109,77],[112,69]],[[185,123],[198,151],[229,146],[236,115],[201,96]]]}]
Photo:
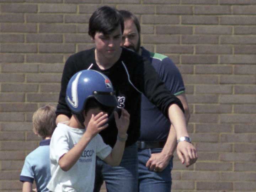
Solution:
[{"label": "child in blue helmet and white printed t-shirt", "polygon": [[69,81],[66,103],[72,116],[58,123],[50,142],[52,192],[91,192],[95,180],[96,156],[111,166],[121,162],[127,139],[129,113],[114,112],[118,129],[113,149],[98,134],[108,127],[108,116],[118,105],[111,81],[94,70],[82,70]]}]

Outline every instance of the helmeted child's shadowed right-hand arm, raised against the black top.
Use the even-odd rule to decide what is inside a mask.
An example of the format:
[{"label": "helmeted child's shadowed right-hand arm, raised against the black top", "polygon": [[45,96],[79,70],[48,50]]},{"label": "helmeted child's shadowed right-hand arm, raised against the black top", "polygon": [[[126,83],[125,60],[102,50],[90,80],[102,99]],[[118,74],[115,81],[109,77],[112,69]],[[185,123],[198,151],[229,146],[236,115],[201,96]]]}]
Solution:
[{"label": "helmeted child's shadowed right-hand arm, raised against the black top", "polygon": [[122,160],[125,142],[127,139],[127,129],[130,123],[130,114],[122,108],[121,117],[118,118],[118,114],[115,111],[114,117],[118,129],[118,136],[116,144],[114,145],[111,154],[109,154],[104,161],[111,166],[118,166]]}]

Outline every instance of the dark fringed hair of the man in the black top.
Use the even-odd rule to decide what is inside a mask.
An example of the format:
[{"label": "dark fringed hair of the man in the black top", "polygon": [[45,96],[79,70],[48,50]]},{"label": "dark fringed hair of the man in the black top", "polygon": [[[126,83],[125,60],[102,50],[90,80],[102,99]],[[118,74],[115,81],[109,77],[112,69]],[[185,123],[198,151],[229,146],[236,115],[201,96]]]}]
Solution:
[{"label": "dark fringed hair of the man in the black top", "polygon": [[122,34],[124,31],[124,21],[118,10],[113,7],[103,6],[98,8],[90,17],[88,34],[94,39],[96,32],[104,35],[110,34],[121,25]]}]

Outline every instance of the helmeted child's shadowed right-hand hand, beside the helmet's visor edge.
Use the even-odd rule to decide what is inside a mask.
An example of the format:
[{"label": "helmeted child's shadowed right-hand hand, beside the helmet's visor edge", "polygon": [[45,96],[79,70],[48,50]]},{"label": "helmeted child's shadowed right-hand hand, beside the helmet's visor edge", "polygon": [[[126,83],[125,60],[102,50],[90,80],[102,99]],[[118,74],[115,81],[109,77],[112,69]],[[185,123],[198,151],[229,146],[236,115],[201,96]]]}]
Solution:
[{"label": "helmeted child's shadowed right-hand hand, beside the helmet's visor edge", "polygon": [[116,126],[118,129],[118,134],[119,135],[126,135],[127,129],[129,127],[130,123],[130,114],[124,109],[122,109],[122,114],[121,117],[118,117],[118,113],[114,111],[114,118],[116,121]]}]

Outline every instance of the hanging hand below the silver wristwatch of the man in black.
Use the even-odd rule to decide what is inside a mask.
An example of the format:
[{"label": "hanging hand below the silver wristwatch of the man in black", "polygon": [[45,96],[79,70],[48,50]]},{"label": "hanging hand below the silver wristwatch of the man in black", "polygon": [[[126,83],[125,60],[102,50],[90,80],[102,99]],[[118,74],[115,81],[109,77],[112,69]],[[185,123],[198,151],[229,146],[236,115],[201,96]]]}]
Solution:
[{"label": "hanging hand below the silver wristwatch of the man in black", "polygon": [[186,167],[192,165],[197,160],[196,148],[186,141],[181,141],[177,145],[177,155],[182,164],[186,164]]}]

